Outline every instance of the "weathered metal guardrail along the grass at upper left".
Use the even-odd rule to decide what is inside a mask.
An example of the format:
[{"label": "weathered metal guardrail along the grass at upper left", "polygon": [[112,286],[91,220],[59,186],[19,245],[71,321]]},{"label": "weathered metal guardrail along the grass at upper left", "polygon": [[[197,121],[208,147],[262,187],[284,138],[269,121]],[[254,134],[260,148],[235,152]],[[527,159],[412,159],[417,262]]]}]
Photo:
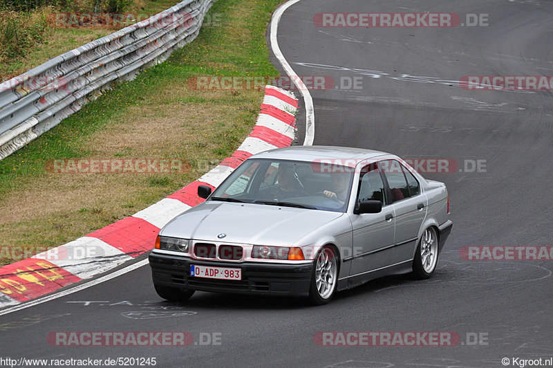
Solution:
[{"label": "weathered metal guardrail along the grass at upper left", "polygon": [[0,84],[0,160],[193,41],[213,1],[182,1]]}]

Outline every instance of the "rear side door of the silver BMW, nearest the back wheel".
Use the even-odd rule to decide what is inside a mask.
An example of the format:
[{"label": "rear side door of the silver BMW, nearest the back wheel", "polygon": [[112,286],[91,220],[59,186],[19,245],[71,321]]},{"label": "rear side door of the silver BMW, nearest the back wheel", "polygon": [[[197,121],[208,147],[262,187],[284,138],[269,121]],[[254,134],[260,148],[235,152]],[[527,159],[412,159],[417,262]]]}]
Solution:
[{"label": "rear side door of the silver BMW, nearest the back wheel", "polygon": [[398,160],[383,160],[379,165],[395,213],[395,246],[391,250],[391,264],[411,261],[420,226],[427,217],[427,197],[421,193],[415,176]]}]

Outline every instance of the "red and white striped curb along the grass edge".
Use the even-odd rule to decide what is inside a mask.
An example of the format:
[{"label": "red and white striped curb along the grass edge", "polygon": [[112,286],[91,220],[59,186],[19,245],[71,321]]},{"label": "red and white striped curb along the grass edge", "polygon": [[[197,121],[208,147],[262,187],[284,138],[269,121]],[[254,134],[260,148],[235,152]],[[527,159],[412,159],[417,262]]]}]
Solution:
[{"label": "red and white striped curb along the grass edge", "polygon": [[204,201],[198,185],[217,187],[243,160],[268,149],[288,147],[296,131],[294,95],[265,86],[256,125],[232,156],[198,180],[149,208],[48,252],[0,268],[0,308],[33,300],[90,279],[153,248],[156,236],[176,215]]}]

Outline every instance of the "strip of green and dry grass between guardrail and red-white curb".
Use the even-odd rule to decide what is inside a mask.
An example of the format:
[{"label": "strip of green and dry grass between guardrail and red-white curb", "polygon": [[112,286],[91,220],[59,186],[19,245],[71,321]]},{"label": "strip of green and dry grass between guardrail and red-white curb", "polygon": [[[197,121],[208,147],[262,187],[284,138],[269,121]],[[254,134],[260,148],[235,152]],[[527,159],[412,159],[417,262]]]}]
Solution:
[{"label": "strip of green and dry grass between guardrail and red-white curb", "polygon": [[[272,75],[265,29],[279,0],[218,0],[218,21],[163,64],[104,93],[0,160],[0,264],[127,217],[232,154],[255,124],[263,91],[198,91],[197,75]],[[185,172],[63,174],[49,160],[177,159]]]}]

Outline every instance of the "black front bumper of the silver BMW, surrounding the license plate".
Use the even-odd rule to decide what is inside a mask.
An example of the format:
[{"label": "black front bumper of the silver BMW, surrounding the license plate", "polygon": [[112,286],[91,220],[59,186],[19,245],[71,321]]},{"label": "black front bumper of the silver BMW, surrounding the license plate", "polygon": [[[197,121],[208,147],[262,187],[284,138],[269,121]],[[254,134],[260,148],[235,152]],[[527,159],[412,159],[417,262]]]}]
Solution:
[{"label": "black front bumper of the silver BMW, surrounding the license plate", "polygon": [[[255,295],[307,297],[312,264],[261,264],[256,262],[197,261],[188,257],[150,253],[153,284],[181,290]],[[191,277],[190,265],[241,268],[241,280]]]}]

